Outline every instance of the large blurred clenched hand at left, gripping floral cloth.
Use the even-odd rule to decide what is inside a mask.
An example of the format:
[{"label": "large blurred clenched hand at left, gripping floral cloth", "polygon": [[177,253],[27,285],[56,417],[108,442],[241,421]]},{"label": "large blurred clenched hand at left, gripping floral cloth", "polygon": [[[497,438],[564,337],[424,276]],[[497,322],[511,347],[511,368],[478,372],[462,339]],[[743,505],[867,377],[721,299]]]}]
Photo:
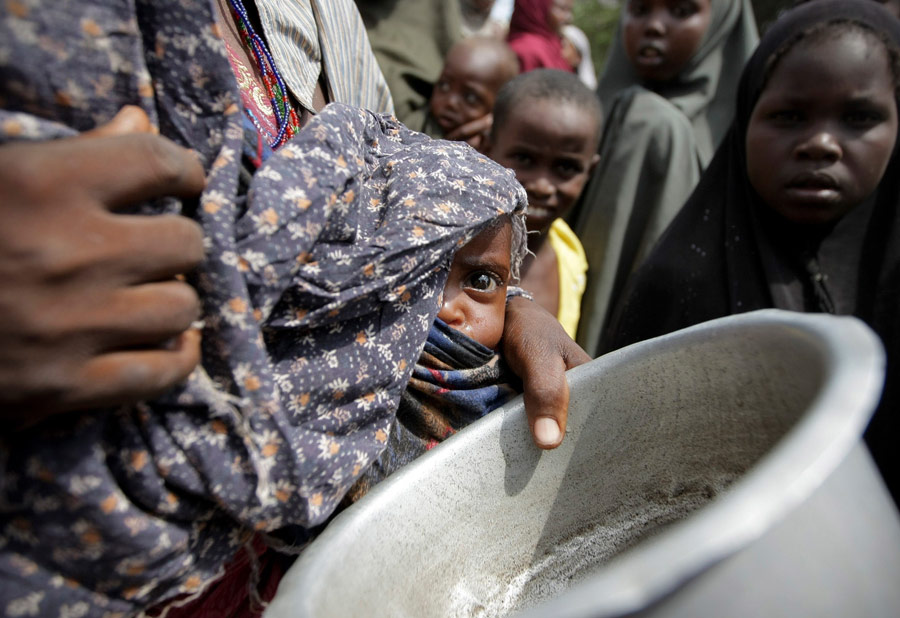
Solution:
[{"label": "large blurred clenched hand at left, gripping floral cloth", "polygon": [[83,136],[0,147],[0,409],[6,427],[151,397],[199,361],[203,258],[187,218],[116,208],[204,186],[188,150],[123,110]]}]

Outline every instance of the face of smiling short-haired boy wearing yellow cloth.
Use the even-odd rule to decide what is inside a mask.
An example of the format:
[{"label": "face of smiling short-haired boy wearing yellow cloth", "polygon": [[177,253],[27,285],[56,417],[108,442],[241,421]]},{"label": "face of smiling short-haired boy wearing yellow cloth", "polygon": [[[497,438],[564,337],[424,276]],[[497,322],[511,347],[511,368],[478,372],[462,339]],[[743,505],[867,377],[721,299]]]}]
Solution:
[{"label": "face of smiling short-haired boy wearing yellow cloth", "polygon": [[488,154],[525,187],[528,231],[546,233],[581,195],[599,159],[597,122],[574,103],[529,99],[496,130]]}]

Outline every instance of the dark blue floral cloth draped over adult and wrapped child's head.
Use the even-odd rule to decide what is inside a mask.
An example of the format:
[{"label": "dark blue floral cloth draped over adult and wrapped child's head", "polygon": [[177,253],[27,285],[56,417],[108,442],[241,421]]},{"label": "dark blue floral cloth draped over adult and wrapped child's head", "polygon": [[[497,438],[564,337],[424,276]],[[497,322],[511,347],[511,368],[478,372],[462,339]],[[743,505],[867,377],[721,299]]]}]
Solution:
[{"label": "dark blue floral cloth draped over adult and wrapped child's head", "polygon": [[208,3],[44,4],[0,20],[0,142],[131,103],[207,170],[199,203],[140,209],[204,229],[201,366],[157,400],[0,443],[0,607],[130,615],[203,592],[254,531],[274,544],[328,518],[385,447],[456,248],[526,196],[463,143],[339,104],[248,188]]}]

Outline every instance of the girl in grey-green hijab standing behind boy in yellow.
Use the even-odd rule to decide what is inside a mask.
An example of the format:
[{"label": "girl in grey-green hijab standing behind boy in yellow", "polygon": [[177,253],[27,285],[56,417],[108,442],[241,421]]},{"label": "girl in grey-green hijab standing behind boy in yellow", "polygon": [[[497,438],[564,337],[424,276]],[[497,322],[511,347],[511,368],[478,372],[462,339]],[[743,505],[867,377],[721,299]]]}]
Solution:
[{"label": "girl in grey-green hijab standing behind boy in yellow", "polygon": [[600,164],[569,218],[588,282],[578,343],[595,356],[628,275],[693,190],[756,45],[749,0],[629,0],[598,92]]}]

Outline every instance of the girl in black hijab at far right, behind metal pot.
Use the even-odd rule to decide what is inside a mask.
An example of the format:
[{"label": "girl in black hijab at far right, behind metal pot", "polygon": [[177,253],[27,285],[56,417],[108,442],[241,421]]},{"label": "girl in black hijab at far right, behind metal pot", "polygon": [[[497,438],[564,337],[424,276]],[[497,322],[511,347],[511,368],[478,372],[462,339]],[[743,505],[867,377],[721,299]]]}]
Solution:
[{"label": "girl in black hijab at far right, behind metal pot", "polygon": [[816,0],[780,17],[743,72],[728,137],[629,284],[604,350],[777,307],[856,315],[888,373],[866,440],[898,496],[900,21]]}]

